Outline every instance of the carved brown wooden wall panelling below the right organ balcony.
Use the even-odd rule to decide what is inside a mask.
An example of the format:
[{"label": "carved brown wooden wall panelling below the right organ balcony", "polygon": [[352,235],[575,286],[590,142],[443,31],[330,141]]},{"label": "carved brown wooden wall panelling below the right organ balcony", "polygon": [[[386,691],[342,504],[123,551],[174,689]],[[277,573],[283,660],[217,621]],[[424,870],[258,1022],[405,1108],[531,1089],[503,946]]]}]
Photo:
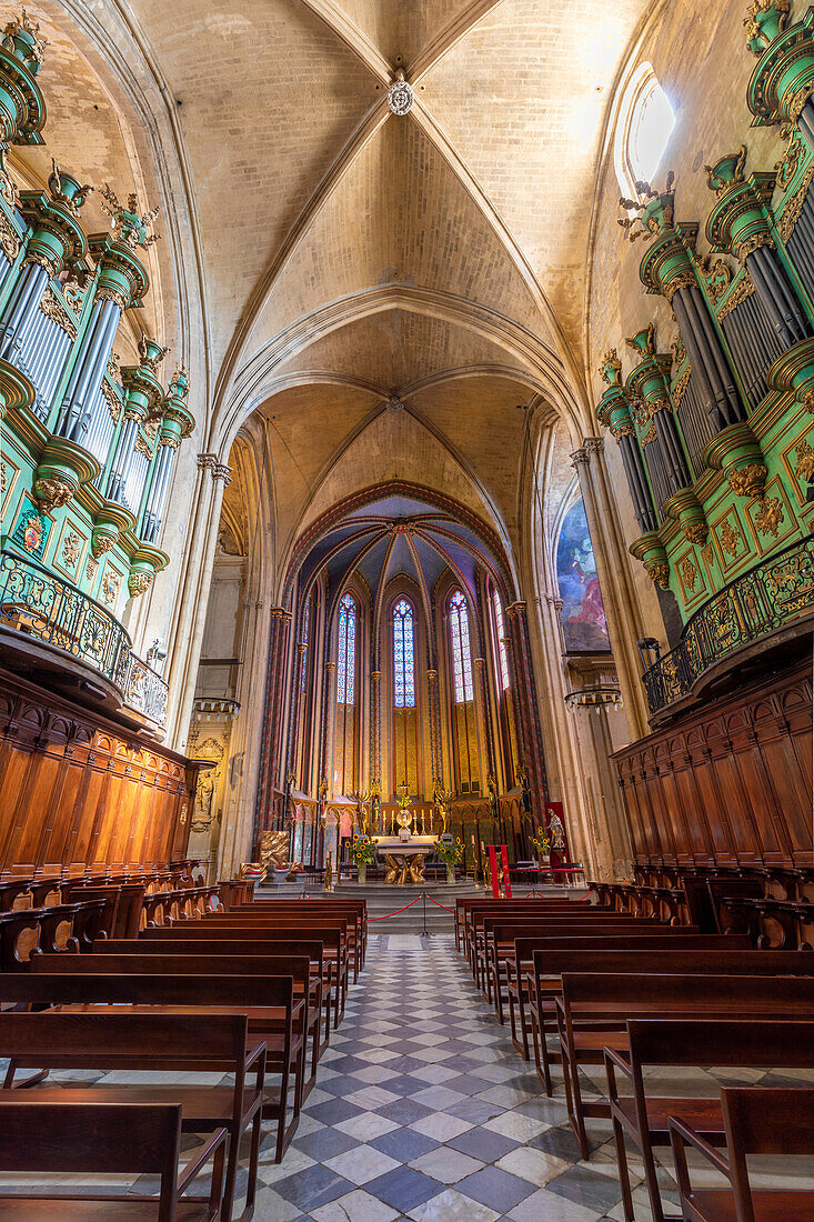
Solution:
[{"label": "carved brown wooden wall panelling below the right organ balcony", "polygon": [[772,667],[770,677],[612,758],[639,860],[736,853],[791,860],[814,848],[808,660]]}]

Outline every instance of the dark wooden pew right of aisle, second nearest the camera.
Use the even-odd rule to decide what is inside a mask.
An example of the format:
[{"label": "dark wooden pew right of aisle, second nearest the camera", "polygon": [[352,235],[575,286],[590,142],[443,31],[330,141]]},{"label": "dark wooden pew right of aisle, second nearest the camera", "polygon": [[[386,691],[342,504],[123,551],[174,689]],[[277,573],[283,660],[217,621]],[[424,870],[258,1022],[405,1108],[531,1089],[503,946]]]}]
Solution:
[{"label": "dark wooden pew right of aisle, second nearest the camera", "polygon": [[[814,1022],[793,1018],[636,1018],[627,1023],[626,1045],[618,1050],[609,1048],[605,1055],[626,1222],[633,1220],[626,1135],[642,1156],[654,1222],[662,1222],[664,1210],[653,1150],[670,1144],[670,1118],[682,1121],[705,1141],[720,1145],[725,1140],[717,1091],[714,1097],[706,1099],[654,1096],[647,1089],[647,1068],[814,1068]],[[628,1094],[620,1094],[618,1075],[628,1085]]]}]

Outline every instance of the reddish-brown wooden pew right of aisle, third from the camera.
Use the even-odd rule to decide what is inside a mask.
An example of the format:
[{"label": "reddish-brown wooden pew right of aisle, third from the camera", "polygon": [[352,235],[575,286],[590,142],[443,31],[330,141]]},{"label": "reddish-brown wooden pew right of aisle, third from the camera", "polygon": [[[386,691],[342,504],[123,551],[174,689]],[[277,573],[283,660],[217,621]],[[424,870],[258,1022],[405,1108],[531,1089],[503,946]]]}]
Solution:
[{"label": "reddish-brown wooden pew right of aisle, third from the camera", "polygon": [[563,973],[555,1001],[566,1106],[583,1158],[589,1156],[585,1117],[609,1118],[611,1110],[605,1100],[583,1101],[579,1067],[604,1064],[605,1048],[626,1048],[627,1019],[814,1014],[812,976]]}]

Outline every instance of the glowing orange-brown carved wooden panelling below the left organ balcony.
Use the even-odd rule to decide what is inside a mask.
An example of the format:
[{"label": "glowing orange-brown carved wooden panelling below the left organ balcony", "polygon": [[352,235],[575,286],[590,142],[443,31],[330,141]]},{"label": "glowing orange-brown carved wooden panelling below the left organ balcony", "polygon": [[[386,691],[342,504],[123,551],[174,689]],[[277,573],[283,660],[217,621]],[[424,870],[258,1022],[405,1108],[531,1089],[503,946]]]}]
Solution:
[{"label": "glowing orange-brown carved wooden panelling below the left organ balcony", "polygon": [[0,870],[183,857],[198,769],[0,671]]}]

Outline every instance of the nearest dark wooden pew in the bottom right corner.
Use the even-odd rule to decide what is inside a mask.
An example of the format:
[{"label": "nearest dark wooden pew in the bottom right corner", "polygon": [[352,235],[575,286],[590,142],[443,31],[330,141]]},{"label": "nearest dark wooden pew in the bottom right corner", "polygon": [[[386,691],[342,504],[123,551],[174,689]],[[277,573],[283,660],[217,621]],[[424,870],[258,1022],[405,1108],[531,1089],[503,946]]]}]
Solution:
[{"label": "nearest dark wooden pew in the bottom right corner", "polygon": [[[814,1154],[814,1090],[777,1086],[722,1086],[721,1108],[727,1157],[694,1129],[671,1118],[672,1144],[682,1211],[689,1222],[793,1222],[814,1217],[814,1191],[799,1188],[755,1188],[749,1180],[749,1155]],[[687,1146],[702,1154],[710,1167],[726,1176],[730,1189],[693,1189]]]}]

